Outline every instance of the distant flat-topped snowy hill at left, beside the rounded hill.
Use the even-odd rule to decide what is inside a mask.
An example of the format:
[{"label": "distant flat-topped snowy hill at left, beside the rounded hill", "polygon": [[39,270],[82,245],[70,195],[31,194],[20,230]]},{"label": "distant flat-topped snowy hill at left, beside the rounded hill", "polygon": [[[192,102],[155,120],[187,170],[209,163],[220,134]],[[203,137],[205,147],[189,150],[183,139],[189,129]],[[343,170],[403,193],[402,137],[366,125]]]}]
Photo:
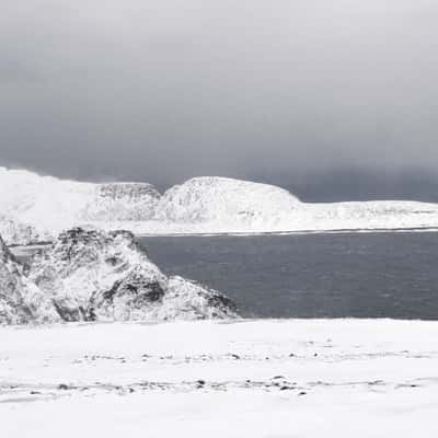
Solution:
[{"label": "distant flat-topped snowy hill at left, beside the rounded hill", "polygon": [[80,183],[0,168],[0,214],[41,234],[88,222],[148,220],[159,197],[150,184]]}]

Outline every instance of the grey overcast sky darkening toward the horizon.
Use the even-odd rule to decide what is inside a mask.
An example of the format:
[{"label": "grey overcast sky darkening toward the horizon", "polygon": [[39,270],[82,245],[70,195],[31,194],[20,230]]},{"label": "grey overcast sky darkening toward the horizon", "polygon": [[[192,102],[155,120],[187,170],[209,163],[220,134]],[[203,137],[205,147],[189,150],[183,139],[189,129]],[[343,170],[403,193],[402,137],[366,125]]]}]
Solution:
[{"label": "grey overcast sky darkening toward the horizon", "polygon": [[437,23],[437,0],[2,0],[0,162],[438,200]]}]

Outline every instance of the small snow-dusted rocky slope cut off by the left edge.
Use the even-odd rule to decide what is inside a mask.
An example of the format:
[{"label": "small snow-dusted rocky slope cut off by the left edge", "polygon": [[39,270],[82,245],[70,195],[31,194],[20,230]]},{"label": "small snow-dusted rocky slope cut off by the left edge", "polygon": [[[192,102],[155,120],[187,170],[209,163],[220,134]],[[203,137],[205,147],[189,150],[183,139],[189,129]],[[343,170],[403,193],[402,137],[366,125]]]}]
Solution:
[{"label": "small snow-dusted rocky slope cut off by the left edge", "polygon": [[0,237],[0,324],[59,321],[51,300],[28,280]]}]

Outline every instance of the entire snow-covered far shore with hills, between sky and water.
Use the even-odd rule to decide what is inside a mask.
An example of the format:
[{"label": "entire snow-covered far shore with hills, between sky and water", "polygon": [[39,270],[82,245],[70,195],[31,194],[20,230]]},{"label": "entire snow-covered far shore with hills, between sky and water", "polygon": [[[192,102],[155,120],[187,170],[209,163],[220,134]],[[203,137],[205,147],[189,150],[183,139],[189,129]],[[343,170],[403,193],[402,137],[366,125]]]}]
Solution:
[{"label": "entire snow-covered far shore with hills, between sky and water", "polygon": [[8,243],[87,224],[136,234],[425,229],[438,228],[438,205],[309,204],[276,186],[214,176],[161,195],[146,183],[82,183],[0,168],[0,234]]}]

